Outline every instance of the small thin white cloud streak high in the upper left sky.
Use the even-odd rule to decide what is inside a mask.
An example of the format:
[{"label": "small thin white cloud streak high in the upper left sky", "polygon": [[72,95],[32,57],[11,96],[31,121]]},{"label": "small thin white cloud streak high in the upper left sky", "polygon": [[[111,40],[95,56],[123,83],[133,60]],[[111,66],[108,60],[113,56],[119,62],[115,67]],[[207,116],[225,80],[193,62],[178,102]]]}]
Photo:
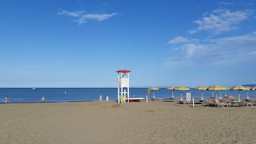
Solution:
[{"label": "small thin white cloud streak high in the upper left sky", "polygon": [[115,16],[118,13],[112,13],[112,14],[85,14],[86,11],[62,11],[60,15],[67,15],[67,16],[72,16],[72,17],[77,17],[75,21],[78,24],[83,24],[87,22],[87,20],[96,20],[96,21],[104,21],[106,19],[109,19],[112,16]]}]

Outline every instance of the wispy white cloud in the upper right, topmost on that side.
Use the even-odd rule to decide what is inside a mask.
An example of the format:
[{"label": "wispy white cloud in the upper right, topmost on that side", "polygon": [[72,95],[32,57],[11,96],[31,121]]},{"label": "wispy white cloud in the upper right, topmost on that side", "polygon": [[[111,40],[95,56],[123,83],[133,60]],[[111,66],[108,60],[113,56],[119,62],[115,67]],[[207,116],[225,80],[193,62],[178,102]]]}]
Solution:
[{"label": "wispy white cloud in the upper right, topmost on that side", "polygon": [[237,24],[248,19],[252,10],[230,11],[228,9],[215,9],[212,13],[204,13],[202,19],[194,21],[199,27],[189,30],[190,34],[207,31],[212,34],[221,34],[238,29]]}]

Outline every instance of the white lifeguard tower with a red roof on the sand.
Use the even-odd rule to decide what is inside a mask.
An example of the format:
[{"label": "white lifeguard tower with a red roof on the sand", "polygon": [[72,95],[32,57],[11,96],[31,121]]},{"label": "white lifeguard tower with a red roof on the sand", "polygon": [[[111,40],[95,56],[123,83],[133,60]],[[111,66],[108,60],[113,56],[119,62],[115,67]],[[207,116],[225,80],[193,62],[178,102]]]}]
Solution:
[{"label": "white lifeguard tower with a red roof on the sand", "polygon": [[118,103],[129,102],[129,75],[131,70],[120,69],[118,73]]}]

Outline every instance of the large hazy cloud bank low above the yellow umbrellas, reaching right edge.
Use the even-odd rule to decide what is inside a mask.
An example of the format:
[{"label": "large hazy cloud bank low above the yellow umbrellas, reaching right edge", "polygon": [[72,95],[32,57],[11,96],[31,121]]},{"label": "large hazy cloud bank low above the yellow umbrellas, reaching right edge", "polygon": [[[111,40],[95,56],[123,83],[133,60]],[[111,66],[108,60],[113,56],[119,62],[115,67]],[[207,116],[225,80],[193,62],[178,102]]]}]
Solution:
[{"label": "large hazy cloud bank low above the yellow umbrellas, reaching right edge", "polygon": [[[176,44],[174,48],[177,48]],[[256,60],[256,32],[236,37],[207,39],[172,49],[166,64],[240,64]]]}]

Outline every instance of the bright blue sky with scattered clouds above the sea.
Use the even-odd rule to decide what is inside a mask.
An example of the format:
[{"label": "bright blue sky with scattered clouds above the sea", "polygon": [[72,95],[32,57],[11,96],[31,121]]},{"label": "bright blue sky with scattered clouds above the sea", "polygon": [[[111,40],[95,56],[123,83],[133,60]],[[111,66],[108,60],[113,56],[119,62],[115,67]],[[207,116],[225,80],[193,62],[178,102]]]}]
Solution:
[{"label": "bright blue sky with scattered clouds above the sea", "polygon": [[256,2],[0,1],[0,87],[256,83]]}]

